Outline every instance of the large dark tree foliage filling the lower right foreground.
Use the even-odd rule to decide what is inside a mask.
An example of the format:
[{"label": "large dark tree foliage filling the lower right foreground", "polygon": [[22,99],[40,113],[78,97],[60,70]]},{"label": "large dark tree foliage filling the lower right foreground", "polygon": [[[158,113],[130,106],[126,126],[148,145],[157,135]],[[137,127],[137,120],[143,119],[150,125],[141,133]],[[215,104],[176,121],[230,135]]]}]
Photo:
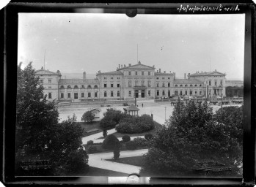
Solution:
[{"label": "large dark tree foliage filling the lower right foreground", "polygon": [[[222,109],[223,110],[223,109]],[[225,111],[225,110],[223,110]],[[232,111],[232,110],[228,110]],[[239,109],[241,114],[241,109]],[[238,111],[236,111],[238,112]],[[213,118],[211,107],[200,102],[188,104],[178,102],[169,118],[168,126],[157,131],[152,139],[149,152],[145,155],[142,175],[160,176],[198,176],[199,163],[218,163],[230,167],[227,172],[210,172],[211,175],[241,175],[241,141],[236,134],[241,128],[232,131],[227,121]],[[221,115],[222,116],[222,115]],[[242,115],[238,115],[242,121]],[[241,125],[241,123],[240,123]],[[206,164],[207,165],[207,164]]]}]

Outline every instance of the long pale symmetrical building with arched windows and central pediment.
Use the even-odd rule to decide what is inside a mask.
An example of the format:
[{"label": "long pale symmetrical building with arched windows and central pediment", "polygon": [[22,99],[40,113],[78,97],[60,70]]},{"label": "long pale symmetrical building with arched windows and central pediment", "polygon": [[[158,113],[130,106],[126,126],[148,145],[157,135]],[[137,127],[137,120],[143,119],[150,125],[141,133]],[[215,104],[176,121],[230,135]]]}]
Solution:
[{"label": "long pale symmetrical building with arched windows and central pediment", "polygon": [[225,74],[197,72],[176,79],[175,72],[161,72],[155,66],[141,64],[119,65],[116,71],[100,72],[95,79],[62,79],[59,70],[36,71],[45,87],[48,100],[83,102],[85,100],[159,99],[172,96],[225,96]]}]

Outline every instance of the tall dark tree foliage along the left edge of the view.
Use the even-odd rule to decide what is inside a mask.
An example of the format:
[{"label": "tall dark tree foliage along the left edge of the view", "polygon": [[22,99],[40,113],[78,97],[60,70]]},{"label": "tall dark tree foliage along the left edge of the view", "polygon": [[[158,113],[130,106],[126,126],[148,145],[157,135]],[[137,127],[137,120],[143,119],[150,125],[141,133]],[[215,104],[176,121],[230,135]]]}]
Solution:
[{"label": "tall dark tree foliage along the left edge of the view", "polygon": [[[86,172],[88,156],[81,147],[82,129],[76,116],[58,123],[59,112],[54,102],[43,96],[43,85],[30,63],[18,66],[16,101],[16,173],[15,175],[70,175]],[[42,169],[24,171],[21,161],[50,160]]]}]

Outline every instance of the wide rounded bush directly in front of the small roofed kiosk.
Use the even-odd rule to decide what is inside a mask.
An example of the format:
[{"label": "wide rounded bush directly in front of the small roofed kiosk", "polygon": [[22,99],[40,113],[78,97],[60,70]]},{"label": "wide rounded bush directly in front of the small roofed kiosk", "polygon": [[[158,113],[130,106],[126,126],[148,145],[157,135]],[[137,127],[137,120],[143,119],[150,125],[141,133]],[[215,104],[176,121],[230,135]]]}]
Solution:
[{"label": "wide rounded bush directly in front of the small roofed kiosk", "polygon": [[154,122],[150,115],[142,115],[138,117],[128,115],[120,120],[116,130],[120,133],[133,134],[150,131],[154,128]]}]

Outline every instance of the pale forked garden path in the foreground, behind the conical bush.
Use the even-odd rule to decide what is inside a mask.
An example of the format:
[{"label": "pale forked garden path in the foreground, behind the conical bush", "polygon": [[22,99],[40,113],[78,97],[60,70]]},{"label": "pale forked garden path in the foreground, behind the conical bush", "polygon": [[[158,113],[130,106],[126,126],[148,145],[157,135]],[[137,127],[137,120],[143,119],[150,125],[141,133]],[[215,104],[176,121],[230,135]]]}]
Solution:
[{"label": "pale forked garden path in the foreground, behind the conical bush", "polygon": [[[147,153],[148,149],[141,150],[125,150],[120,152],[120,158],[133,157],[133,156],[142,156]],[[128,175],[131,173],[139,173],[141,167],[136,167],[129,164],[121,164],[113,161],[106,161],[106,159],[112,159],[113,152],[111,153],[96,153],[89,154],[88,164],[90,167],[98,167],[101,169],[108,169],[115,172],[123,172]]]}]

